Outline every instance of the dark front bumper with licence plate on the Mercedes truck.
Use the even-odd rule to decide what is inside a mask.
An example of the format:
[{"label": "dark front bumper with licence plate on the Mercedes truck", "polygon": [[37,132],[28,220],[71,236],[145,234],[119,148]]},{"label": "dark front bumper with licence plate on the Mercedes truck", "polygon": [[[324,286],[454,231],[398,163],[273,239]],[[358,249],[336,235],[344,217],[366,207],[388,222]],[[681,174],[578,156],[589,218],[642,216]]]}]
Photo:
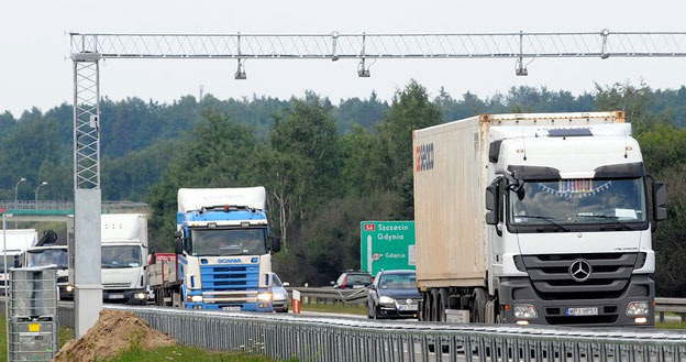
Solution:
[{"label": "dark front bumper with licence plate on the Mercedes truck", "polygon": [[[579,283],[577,290],[583,289]],[[557,325],[557,326],[654,326],[654,282],[648,275],[632,275],[622,292],[612,297],[597,294],[595,298],[579,298],[578,293],[566,293],[555,298],[543,296],[529,277],[504,277],[500,279],[499,298],[502,321],[507,323]],[[628,315],[632,301],[648,301],[648,312]],[[517,305],[535,308],[535,317],[514,316]]]}]

